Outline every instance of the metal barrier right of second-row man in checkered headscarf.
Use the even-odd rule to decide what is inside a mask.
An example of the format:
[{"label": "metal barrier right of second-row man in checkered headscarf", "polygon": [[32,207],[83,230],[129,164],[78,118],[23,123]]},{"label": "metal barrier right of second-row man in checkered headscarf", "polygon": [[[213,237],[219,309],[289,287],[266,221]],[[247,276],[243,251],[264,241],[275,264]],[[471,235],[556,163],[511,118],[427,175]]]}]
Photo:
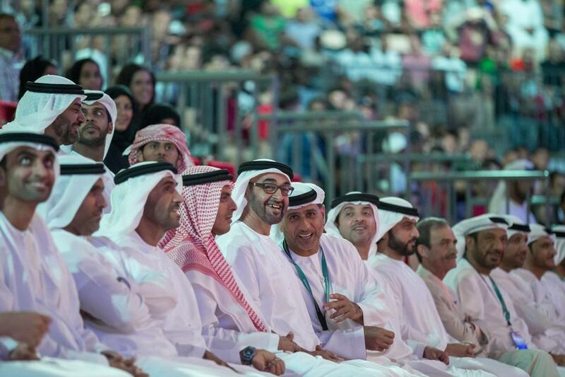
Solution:
[{"label": "metal barrier right of second-row man in checkered headscarf", "polygon": [[[237,165],[258,158],[258,94],[260,88],[278,93],[275,75],[259,75],[253,71],[184,71],[160,72],[157,81],[157,100],[176,105],[194,154],[213,154],[220,160],[229,159]],[[251,88],[250,93],[246,88]],[[160,94],[159,94],[160,93]],[[251,103],[240,114],[242,93]],[[276,105],[273,105],[273,109]],[[244,120],[247,129],[244,129]],[[227,150],[232,144],[233,153]]]}]

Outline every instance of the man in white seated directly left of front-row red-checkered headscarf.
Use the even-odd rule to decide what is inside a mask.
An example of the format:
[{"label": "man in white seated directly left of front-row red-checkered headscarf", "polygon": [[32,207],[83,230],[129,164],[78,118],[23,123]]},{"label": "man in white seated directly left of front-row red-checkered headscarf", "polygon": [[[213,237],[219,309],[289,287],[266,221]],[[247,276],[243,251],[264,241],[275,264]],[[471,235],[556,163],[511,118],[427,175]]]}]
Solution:
[{"label": "man in white seated directly left of front-row red-checkered headscarf", "polygon": [[[152,319],[161,325],[172,352],[176,349],[177,356],[191,358],[191,364],[200,361],[214,370],[209,373],[229,375],[227,364],[208,350],[192,286],[158,246],[169,229],[179,226],[182,178],[177,169],[170,163],[137,163],[121,170],[114,181],[112,211],[102,217],[100,231],[94,234],[97,240],[91,243],[104,255],[114,254],[114,262],[124,269],[126,278],[142,286],[145,304]],[[119,246],[118,252],[114,244]],[[240,351],[232,344],[218,349]]]}]

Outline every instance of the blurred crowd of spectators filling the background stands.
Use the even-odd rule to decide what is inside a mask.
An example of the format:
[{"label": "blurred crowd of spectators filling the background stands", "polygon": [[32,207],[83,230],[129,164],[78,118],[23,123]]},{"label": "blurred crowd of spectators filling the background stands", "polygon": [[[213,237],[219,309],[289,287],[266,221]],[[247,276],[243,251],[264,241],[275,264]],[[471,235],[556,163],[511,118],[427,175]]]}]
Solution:
[{"label": "blurred crowd of spectators filling the background stands", "polygon": [[[47,20],[43,1],[2,3],[17,25],[0,17],[1,100],[16,101],[20,82],[49,72],[87,89],[108,89],[119,98],[114,142],[125,148],[139,127],[163,120],[194,131],[194,124],[175,110],[178,88],[156,82],[157,73],[247,69],[276,74],[276,92],[242,83],[228,114],[230,107],[243,114],[254,107],[272,112],[276,97],[278,110],[357,110],[367,120],[410,122],[409,134],[388,134],[377,151],[400,153],[410,144],[416,153],[468,153],[472,166],[465,168],[486,170],[528,158],[552,172],[549,195],[559,198],[556,216],[565,221],[562,0],[48,3]],[[59,62],[30,56],[26,30],[46,26],[143,26],[150,31],[150,59],[124,59],[131,40],[121,35],[112,37],[109,47],[102,37],[83,37],[77,42],[83,55]],[[20,42],[10,44],[15,35]],[[124,61],[131,64],[119,64]],[[249,95],[254,90],[258,103]],[[228,117],[217,127],[230,129],[230,122]],[[262,127],[259,137],[267,139],[268,124]],[[406,187],[401,171],[399,176],[400,192]]]}]

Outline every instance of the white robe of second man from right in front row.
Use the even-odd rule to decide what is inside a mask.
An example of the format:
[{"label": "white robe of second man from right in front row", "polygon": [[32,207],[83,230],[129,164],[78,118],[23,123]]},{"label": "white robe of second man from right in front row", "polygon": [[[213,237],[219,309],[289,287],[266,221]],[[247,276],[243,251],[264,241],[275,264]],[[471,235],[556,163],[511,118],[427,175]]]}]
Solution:
[{"label": "white robe of second man from right in front row", "polygon": [[[543,331],[535,332],[530,327],[530,333],[537,347],[545,349],[545,351],[552,354],[565,354],[565,316],[559,316],[557,308],[551,296],[549,296],[549,291],[547,291],[540,279],[537,279],[535,274],[528,269],[515,269],[511,272],[511,275],[516,275],[516,277],[523,279],[523,282],[528,286],[528,291],[524,292],[524,296],[533,298],[533,301],[530,301],[530,303],[535,304],[540,317],[546,317],[548,320],[549,324]],[[516,303],[516,301],[514,302]]]}]

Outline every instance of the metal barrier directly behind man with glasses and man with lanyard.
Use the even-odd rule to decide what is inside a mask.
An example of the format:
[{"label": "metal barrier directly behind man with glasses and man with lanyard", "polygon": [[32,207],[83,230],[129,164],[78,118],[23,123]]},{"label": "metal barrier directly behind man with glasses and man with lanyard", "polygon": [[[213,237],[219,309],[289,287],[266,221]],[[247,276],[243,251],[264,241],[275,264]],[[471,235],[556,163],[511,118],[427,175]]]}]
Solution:
[{"label": "metal barrier directly behind man with glasses and man with lanyard", "polygon": [[375,150],[379,134],[398,129],[408,134],[410,127],[405,121],[363,120],[359,112],[278,112],[259,119],[271,122],[270,146],[275,157],[306,180],[321,182],[327,204],[336,195],[364,191],[374,179],[365,174],[359,156]]}]

